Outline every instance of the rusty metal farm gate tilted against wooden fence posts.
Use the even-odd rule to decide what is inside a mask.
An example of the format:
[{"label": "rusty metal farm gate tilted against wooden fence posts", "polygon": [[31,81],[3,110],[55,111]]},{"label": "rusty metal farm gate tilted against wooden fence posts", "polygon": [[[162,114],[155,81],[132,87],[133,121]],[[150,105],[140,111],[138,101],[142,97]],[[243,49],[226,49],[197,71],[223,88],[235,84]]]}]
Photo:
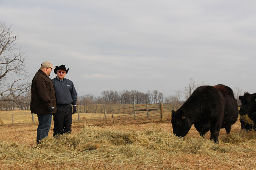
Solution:
[{"label": "rusty metal farm gate tilted against wooden fence posts", "polygon": [[133,123],[163,118],[163,103],[138,105],[112,110],[113,123]]}]

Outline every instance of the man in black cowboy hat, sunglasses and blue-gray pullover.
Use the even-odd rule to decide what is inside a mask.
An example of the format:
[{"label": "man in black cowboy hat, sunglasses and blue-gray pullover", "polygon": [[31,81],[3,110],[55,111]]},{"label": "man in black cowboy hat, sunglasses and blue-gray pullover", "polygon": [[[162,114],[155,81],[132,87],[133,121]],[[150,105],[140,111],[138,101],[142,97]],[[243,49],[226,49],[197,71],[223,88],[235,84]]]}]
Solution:
[{"label": "man in black cowboy hat, sunglasses and blue-gray pullover", "polygon": [[[52,79],[57,97],[58,111],[53,114],[53,136],[71,133],[72,114],[76,113],[77,92],[72,81],[65,78],[69,69],[65,65],[56,66],[53,70],[57,74]],[[73,105],[73,112],[72,106]]]}]

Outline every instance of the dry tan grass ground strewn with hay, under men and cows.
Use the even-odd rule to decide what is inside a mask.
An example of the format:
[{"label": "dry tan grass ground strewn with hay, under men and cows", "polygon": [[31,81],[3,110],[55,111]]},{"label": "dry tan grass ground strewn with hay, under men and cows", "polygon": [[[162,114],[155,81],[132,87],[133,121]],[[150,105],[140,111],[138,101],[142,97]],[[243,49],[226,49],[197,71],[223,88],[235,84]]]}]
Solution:
[{"label": "dry tan grass ground strewn with hay, under men and cows", "polygon": [[59,138],[52,123],[39,145],[36,123],[1,125],[0,169],[256,169],[256,132],[241,130],[239,120],[231,134],[221,129],[217,145],[193,126],[174,136],[169,113],[164,121],[115,126],[96,115],[74,120],[72,134]]}]

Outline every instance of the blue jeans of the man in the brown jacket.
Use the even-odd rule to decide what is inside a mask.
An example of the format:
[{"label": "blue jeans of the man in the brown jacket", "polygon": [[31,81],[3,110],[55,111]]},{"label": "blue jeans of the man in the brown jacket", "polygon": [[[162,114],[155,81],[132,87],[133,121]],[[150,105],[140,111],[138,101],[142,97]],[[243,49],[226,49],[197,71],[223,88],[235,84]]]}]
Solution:
[{"label": "blue jeans of the man in the brown jacket", "polygon": [[37,114],[39,125],[36,132],[36,144],[48,136],[52,123],[52,114]]}]

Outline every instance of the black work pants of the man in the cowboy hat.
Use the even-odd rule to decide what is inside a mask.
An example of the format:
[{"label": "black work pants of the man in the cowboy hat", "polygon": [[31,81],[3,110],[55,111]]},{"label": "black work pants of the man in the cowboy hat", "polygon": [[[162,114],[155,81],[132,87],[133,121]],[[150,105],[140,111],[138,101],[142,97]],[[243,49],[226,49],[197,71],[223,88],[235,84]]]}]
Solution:
[{"label": "black work pants of the man in the cowboy hat", "polygon": [[72,106],[58,105],[58,112],[53,114],[53,136],[70,133],[72,124]]}]

